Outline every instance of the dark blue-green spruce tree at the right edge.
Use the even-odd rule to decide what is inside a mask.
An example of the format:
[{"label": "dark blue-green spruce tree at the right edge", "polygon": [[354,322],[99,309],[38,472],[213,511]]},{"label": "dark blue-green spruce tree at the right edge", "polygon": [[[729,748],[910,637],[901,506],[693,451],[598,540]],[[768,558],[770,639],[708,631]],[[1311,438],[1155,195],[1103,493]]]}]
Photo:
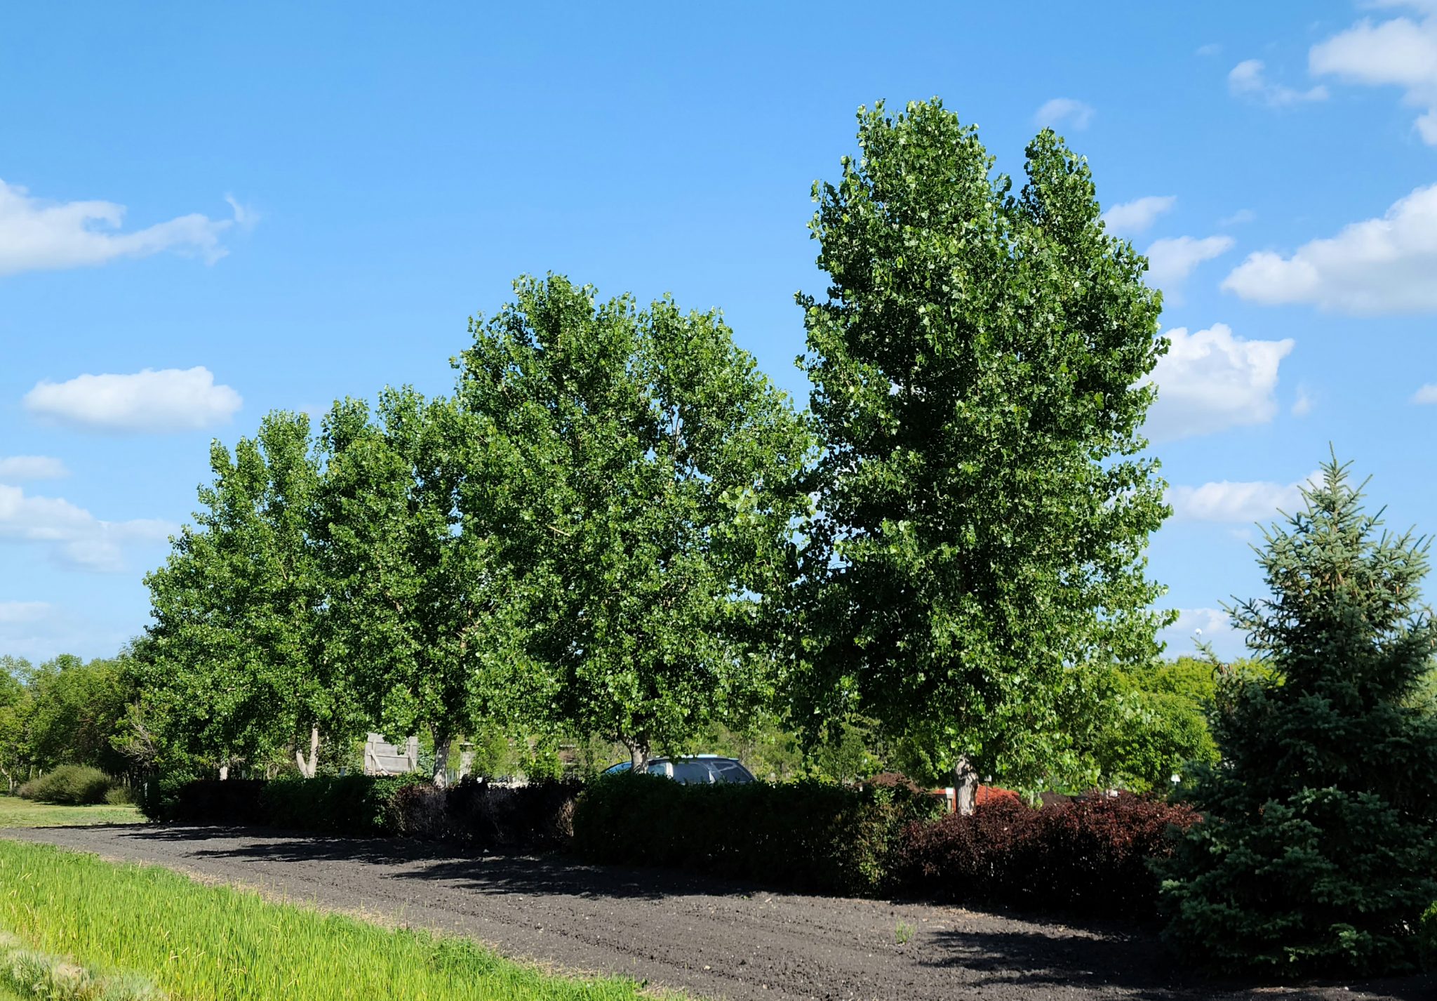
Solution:
[{"label": "dark blue-green spruce tree at the right edge", "polygon": [[1223,762],[1165,867],[1167,935],[1227,971],[1392,972],[1437,897],[1427,544],[1380,534],[1335,459],[1303,496],[1260,551],[1272,597],[1233,608],[1270,675],[1220,685]]}]

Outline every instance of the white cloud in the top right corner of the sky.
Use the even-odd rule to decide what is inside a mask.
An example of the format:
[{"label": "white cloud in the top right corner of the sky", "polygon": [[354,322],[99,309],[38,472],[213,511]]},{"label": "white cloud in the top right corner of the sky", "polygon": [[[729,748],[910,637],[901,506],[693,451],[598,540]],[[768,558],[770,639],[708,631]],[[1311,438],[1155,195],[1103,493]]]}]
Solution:
[{"label": "white cloud in the top right corner of the sky", "polygon": [[1403,88],[1404,104],[1424,109],[1414,122],[1417,134],[1423,142],[1437,145],[1437,4],[1382,6],[1414,7],[1427,16],[1420,22],[1394,17],[1375,24],[1364,19],[1312,46],[1308,69],[1349,83]]}]

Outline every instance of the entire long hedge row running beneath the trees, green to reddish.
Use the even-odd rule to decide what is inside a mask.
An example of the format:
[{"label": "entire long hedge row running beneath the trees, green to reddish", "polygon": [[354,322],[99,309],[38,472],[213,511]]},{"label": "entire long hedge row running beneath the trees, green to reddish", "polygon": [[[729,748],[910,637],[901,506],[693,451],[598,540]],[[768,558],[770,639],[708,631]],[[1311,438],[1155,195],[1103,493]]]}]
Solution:
[{"label": "entire long hedge row running beneath the trees, green to reddish", "polygon": [[1040,810],[993,797],[969,817],[907,782],[683,785],[611,775],[586,787],[497,788],[365,775],[164,780],[154,820],[408,836],[480,849],[569,849],[595,863],[664,866],[848,896],[900,895],[1104,916],[1151,916],[1152,859],[1171,853],[1190,807],[1129,794]]}]

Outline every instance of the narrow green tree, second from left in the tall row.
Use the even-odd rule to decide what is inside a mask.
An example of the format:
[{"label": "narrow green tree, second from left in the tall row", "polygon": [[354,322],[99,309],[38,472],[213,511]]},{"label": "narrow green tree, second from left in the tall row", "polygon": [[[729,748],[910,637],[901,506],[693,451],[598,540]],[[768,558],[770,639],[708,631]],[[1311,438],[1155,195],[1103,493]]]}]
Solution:
[{"label": "narrow green tree, second from left in the tall row", "polygon": [[461,531],[473,452],[454,401],[411,388],[325,419],[316,544],[329,581],[328,656],[366,719],[392,738],[427,728],[434,780],[468,731],[489,614],[486,539]]}]

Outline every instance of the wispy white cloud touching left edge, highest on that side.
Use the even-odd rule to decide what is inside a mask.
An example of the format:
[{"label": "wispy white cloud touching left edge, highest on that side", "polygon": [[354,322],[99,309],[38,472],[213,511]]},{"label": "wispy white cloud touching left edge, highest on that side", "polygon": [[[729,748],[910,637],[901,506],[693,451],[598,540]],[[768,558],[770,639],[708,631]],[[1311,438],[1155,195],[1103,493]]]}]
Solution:
[{"label": "wispy white cloud touching left edge, highest on that side", "polygon": [[0,275],[89,268],[119,257],[148,257],[164,250],[198,255],[214,263],[227,252],[220,234],[250,216],[230,203],[234,219],[198,213],[147,229],[121,232],[125,206],[114,201],[52,203],[0,180]]}]

